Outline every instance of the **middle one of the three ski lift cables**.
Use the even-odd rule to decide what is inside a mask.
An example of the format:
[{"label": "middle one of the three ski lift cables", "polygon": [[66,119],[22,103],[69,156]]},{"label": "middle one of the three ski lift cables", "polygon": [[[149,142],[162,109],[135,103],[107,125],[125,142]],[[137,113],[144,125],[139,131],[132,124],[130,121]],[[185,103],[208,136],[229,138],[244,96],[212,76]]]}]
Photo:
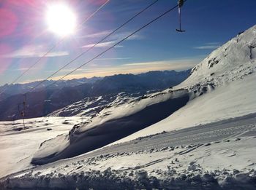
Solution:
[{"label": "middle one of the three ski lift cables", "polygon": [[61,68],[59,68],[59,70],[55,71],[53,74],[50,74],[50,76],[48,76],[46,79],[42,80],[41,82],[39,82],[35,87],[31,88],[31,90],[29,90],[29,92],[33,91],[34,89],[36,89],[37,87],[39,87],[40,84],[46,82],[48,79],[50,79],[50,77],[52,77],[53,75],[59,73],[59,71],[61,71],[62,69],[66,68],[67,66],[69,66],[71,63],[73,63],[75,60],[78,60],[78,58],[82,57],[83,55],[85,55],[87,52],[89,52],[90,50],[92,50],[94,47],[96,47],[99,43],[101,43],[102,41],[104,41],[105,39],[107,39],[109,36],[111,36],[113,33],[116,33],[116,31],[118,31],[120,28],[124,27],[124,25],[127,25],[127,23],[129,23],[130,21],[134,20],[135,17],[138,17],[138,15],[142,14],[143,12],[146,11],[146,9],[148,9],[149,7],[152,7],[154,4],[157,3],[157,1],[159,0],[155,0],[154,2],[152,2],[151,4],[149,4],[147,7],[145,7],[144,9],[142,9],[140,12],[138,12],[136,15],[132,16],[131,18],[129,18],[129,20],[127,20],[125,23],[121,24],[120,26],[118,26],[118,28],[116,28],[114,31],[108,33],[107,36],[105,36],[104,38],[102,38],[101,40],[99,40],[96,44],[94,44],[93,46],[91,46],[88,50],[80,53],[80,55],[78,55],[76,58],[70,60],[66,65],[62,66]]}]

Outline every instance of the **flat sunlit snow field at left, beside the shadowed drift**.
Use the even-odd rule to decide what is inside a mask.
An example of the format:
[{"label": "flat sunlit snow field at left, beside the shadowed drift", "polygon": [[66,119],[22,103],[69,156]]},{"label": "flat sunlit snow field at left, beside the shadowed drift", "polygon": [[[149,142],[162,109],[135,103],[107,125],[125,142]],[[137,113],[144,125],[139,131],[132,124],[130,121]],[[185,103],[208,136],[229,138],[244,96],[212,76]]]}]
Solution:
[{"label": "flat sunlit snow field at left, beside the shadowed drift", "polygon": [[[43,117],[0,122],[0,177],[31,167],[31,158],[45,140],[66,134],[83,117]],[[61,146],[61,144],[59,144]]]}]

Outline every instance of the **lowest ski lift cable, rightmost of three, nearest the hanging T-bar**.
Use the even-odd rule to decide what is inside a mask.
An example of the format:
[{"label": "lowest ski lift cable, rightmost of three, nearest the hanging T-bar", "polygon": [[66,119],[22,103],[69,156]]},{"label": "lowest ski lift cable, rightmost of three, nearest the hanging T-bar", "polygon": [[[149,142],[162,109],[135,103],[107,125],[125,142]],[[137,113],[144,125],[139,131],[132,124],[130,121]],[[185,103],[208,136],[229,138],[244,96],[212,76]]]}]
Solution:
[{"label": "lowest ski lift cable, rightmost of three, nearest the hanging T-bar", "polygon": [[[184,2],[186,2],[187,0],[185,0]],[[121,42],[125,41],[126,39],[128,39],[129,37],[133,36],[135,33],[138,33],[139,31],[141,31],[143,28],[146,28],[148,25],[151,25],[151,23],[154,23],[155,21],[159,20],[159,18],[167,15],[167,13],[173,11],[173,9],[176,9],[179,5],[177,4],[176,6],[168,9],[167,11],[165,11],[164,13],[162,13],[162,15],[159,15],[158,17],[154,18],[154,20],[151,20],[150,22],[146,23],[146,25],[143,25],[142,27],[140,27],[137,31],[134,31],[133,33],[130,33],[128,36],[126,36],[124,39],[121,39],[120,41],[118,41],[116,44],[114,44],[113,46],[109,47],[107,50],[99,53],[99,55],[95,56],[94,58],[91,58],[91,60],[87,61],[86,63],[83,63],[81,66],[79,66],[78,68],[75,68],[74,70],[70,71],[68,74],[62,76],[60,79],[56,80],[55,82],[53,82],[52,84],[49,84],[47,87],[50,87],[53,84],[56,84],[56,82],[59,82],[61,79],[64,79],[66,76],[69,76],[70,74],[74,73],[75,71],[77,71],[79,68],[82,68],[83,66],[85,66],[86,64],[90,63],[92,60],[95,60],[97,58],[99,58],[99,56],[105,54],[105,52],[108,52],[109,50],[113,49],[113,47],[116,47],[116,45],[121,44]]]}]

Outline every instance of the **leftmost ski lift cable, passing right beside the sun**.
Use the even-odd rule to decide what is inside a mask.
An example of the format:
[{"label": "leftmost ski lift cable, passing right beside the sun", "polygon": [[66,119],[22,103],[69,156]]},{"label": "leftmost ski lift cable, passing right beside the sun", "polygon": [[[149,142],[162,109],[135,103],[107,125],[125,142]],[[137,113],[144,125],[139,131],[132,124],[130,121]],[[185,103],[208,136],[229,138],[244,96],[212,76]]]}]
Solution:
[{"label": "leftmost ski lift cable, passing right beside the sun", "polygon": [[[102,4],[98,9],[96,9],[91,15],[89,15],[89,17],[86,17],[86,20],[83,20],[83,23],[80,23],[80,25],[78,26],[78,28],[80,28],[84,23],[86,23],[91,17],[93,17],[97,12],[99,12],[100,9],[102,9],[103,7],[105,7],[106,4],[108,4],[110,0],[106,0],[104,4]],[[37,65],[37,63],[40,62],[40,60],[42,60],[42,58],[45,58],[46,55],[48,55],[52,50],[54,50],[59,44],[61,44],[62,41],[64,41],[65,39],[65,36],[62,37],[61,39],[59,39],[59,41],[56,42],[56,44],[53,45],[53,47],[50,47],[50,49],[45,52],[44,55],[42,55],[34,64],[32,64],[28,69],[26,69],[26,71],[23,71],[22,74],[20,74],[20,76],[18,76],[16,79],[14,79],[11,83],[11,84],[14,84],[15,82],[18,82],[18,80],[24,76],[28,71],[31,70],[31,68],[33,68],[34,66]],[[7,87],[2,90],[2,92],[0,92],[0,95],[5,91],[7,90]]]}]

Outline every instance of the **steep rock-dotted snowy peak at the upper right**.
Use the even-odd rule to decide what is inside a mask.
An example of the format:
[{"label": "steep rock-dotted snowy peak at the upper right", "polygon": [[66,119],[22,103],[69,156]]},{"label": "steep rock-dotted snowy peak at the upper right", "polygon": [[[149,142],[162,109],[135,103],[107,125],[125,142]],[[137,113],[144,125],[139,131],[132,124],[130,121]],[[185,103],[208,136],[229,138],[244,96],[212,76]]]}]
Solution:
[{"label": "steep rock-dotted snowy peak at the upper right", "polygon": [[178,87],[198,83],[226,84],[255,71],[256,25],[228,41],[192,68],[187,80]]}]

